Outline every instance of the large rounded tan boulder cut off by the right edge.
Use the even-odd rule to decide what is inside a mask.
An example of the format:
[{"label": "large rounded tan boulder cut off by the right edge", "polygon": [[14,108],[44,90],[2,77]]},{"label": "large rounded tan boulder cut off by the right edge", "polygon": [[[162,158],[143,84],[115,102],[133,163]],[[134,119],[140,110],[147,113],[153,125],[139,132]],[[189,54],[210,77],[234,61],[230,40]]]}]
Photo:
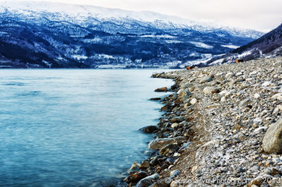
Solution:
[{"label": "large rounded tan boulder cut off by the right edge", "polygon": [[262,140],[266,153],[282,153],[282,119],[271,124]]}]

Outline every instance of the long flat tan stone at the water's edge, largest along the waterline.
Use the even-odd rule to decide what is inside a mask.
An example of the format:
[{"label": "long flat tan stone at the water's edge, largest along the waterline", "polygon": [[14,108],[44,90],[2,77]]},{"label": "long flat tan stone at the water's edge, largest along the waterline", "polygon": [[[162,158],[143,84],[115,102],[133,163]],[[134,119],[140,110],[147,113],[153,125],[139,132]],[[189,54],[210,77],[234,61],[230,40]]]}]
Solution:
[{"label": "long flat tan stone at the water's edge, largest along the waterline", "polygon": [[159,150],[168,144],[181,143],[185,141],[186,141],[186,138],[183,136],[178,136],[175,138],[159,138],[159,139],[155,139],[151,141],[149,143],[149,148],[151,148],[152,150]]}]

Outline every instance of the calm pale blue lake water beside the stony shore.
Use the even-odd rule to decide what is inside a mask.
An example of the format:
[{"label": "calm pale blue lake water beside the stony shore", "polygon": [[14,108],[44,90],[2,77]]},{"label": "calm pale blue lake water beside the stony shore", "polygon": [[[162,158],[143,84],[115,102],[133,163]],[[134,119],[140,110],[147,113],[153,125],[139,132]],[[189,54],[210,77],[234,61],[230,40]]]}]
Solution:
[{"label": "calm pale blue lake water beside the stony shore", "polygon": [[[0,70],[0,186],[101,186],[147,155],[161,70]],[[102,183],[100,183],[102,182]]]}]

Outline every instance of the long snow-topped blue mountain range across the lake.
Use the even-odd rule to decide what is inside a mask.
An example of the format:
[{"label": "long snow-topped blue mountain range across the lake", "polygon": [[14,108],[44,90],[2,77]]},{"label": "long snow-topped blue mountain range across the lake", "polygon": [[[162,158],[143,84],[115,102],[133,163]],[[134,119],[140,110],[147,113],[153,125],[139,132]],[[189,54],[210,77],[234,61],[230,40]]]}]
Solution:
[{"label": "long snow-topped blue mountain range across the lake", "polygon": [[146,11],[2,1],[0,67],[179,67],[262,34]]}]

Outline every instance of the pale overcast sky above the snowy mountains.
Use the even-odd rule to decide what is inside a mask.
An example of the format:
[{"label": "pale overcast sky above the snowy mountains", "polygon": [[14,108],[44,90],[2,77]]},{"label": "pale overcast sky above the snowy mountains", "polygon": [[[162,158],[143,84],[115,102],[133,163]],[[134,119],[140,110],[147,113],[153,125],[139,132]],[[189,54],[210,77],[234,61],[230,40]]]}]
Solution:
[{"label": "pale overcast sky above the snowy mountains", "polygon": [[[37,1],[37,0],[33,0]],[[282,0],[45,0],[132,11],[154,11],[191,20],[268,31],[282,23]]]}]

